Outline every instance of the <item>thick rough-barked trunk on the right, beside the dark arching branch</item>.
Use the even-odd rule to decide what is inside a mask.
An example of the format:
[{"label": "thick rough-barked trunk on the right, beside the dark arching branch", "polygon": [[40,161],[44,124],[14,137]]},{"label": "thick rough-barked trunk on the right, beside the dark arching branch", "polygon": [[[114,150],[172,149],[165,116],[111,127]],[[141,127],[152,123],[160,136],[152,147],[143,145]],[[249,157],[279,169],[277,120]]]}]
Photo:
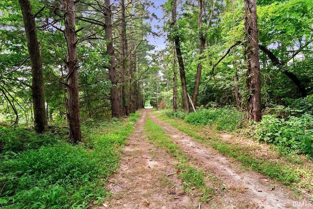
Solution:
[{"label": "thick rough-barked trunk on the right, beside the dark arching branch", "polygon": [[245,32],[247,36],[245,56],[249,91],[249,119],[258,122],[261,120],[262,115],[256,0],[245,0]]}]

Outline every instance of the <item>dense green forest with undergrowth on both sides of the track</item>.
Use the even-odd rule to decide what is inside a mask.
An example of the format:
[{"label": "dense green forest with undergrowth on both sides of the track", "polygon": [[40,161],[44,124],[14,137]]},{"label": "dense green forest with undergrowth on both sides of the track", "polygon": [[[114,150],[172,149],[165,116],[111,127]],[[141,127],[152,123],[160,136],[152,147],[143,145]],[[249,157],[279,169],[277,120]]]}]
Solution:
[{"label": "dense green forest with undergrowth on both sides of the track", "polygon": [[161,2],[0,2],[1,207],[87,207],[150,105],[312,160],[312,0]]}]

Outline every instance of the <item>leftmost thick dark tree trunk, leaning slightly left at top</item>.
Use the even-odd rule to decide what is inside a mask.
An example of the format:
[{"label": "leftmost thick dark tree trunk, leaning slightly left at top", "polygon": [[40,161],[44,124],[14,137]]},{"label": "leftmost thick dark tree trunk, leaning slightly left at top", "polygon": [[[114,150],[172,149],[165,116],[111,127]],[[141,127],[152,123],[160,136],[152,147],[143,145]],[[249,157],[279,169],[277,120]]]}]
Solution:
[{"label": "leftmost thick dark tree trunk, leaning slightly left at top", "polygon": [[35,17],[32,12],[29,0],[19,0],[21,7],[25,33],[27,39],[27,47],[32,69],[32,98],[34,108],[34,126],[36,133],[42,133],[48,128],[47,115],[45,112],[45,93],[43,65],[41,60],[41,52],[37,40],[37,32],[35,25]]}]

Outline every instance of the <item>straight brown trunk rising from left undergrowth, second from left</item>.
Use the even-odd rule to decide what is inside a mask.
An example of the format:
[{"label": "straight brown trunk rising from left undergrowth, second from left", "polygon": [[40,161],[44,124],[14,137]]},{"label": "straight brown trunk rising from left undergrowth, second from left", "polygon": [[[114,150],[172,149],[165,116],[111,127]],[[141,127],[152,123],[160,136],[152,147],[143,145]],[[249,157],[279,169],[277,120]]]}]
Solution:
[{"label": "straight brown trunk rising from left undergrowth, second from left", "polygon": [[67,41],[67,107],[69,139],[82,141],[79,115],[77,32],[75,29],[75,0],[64,2],[65,38]]}]

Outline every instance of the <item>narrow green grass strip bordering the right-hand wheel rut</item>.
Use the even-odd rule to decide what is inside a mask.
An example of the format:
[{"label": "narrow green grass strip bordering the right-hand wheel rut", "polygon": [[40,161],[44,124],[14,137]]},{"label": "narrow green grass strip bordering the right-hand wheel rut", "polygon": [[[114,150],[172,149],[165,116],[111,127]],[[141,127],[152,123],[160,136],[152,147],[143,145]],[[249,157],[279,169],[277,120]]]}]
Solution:
[{"label": "narrow green grass strip bordering the right-hand wheel rut", "polygon": [[[294,164],[297,163],[295,161],[289,162],[288,158],[284,158],[284,161],[281,159],[269,161],[267,158],[264,158],[264,156],[255,155],[255,153],[251,151],[254,150],[252,146],[234,144],[227,140],[222,140],[216,133],[208,131],[204,126],[187,124],[178,119],[170,119],[165,116],[165,114],[161,115],[160,113],[156,113],[155,115],[180,131],[192,136],[195,140],[208,144],[224,155],[239,160],[244,166],[246,166],[246,169],[252,168],[272,179],[279,180],[288,186],[296,186],[307,189],[311,192],[313,191],[312,171],[305,168],[295,169],[295,167],[301,166]],[[279,155],[279,152],[276,151],[276,154]],[[300,164],[302,163],[301,161],[298,162]]]}]

